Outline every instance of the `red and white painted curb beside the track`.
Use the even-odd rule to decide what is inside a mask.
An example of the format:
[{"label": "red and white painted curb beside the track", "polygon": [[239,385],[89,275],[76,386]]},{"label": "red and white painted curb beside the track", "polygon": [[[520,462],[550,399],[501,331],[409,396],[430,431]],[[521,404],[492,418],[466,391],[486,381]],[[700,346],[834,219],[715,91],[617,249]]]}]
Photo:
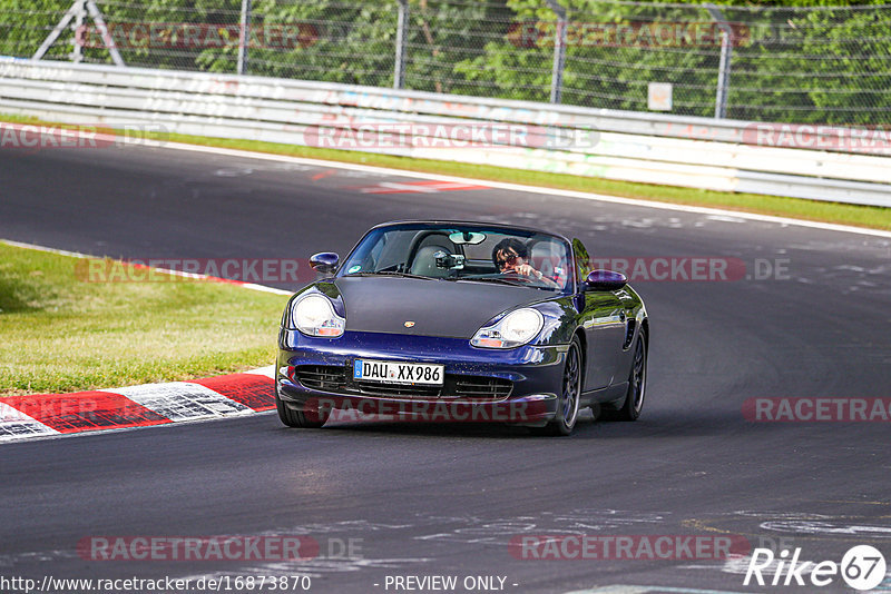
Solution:
[{"label": "red and white painted curb beside the track", "polygon": [[190,382],[0,398],[0,443],[170,423],[214,420],[275,408],[275,367]]}]

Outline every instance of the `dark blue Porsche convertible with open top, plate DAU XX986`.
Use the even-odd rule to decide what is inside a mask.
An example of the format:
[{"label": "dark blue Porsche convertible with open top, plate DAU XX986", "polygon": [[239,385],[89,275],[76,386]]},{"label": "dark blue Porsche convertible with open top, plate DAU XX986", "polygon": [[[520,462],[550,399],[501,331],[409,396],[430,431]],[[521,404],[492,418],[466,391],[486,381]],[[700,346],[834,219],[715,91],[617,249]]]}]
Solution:
[{"label": "dark blue Porsche convertible with open top, plate DAU XX986", "polygon": [[506,422],[569,435],[579,409],[634,420],[649,321],[626,278],[590,270],[578,239],[523,227],[398,221],[287,303],[275,398],[291,427],[333,410]]}]

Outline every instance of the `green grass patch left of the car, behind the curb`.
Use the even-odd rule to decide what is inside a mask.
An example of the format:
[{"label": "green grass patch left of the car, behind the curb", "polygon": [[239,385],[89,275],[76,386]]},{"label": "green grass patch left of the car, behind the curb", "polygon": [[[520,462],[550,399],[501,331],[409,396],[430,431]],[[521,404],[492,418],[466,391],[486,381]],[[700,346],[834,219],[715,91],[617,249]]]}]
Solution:
[{"label": "green grass patch left of the car, behind the curb", "polygon": [[78,263],[85,264],[0,242],[0,395],[192,379],[274,363],[287,297],[166,276],[177,280],[87,283]]}]

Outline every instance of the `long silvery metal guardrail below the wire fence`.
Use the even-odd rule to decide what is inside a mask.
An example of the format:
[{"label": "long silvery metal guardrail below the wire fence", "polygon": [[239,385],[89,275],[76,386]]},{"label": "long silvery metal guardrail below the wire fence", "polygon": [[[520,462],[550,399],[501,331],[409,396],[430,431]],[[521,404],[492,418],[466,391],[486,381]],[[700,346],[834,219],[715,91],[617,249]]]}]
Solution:
[{"label": "long silvery metal guardrail below the wire fence", "polygon": [[19,59],[0,62],[0,112],[891,206],[882,130]]}]

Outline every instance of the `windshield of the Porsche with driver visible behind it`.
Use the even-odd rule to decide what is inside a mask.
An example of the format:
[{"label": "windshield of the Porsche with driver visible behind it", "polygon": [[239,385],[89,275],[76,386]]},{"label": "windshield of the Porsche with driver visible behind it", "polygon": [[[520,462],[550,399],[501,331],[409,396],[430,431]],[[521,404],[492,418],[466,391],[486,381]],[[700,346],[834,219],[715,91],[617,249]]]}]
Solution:
[{"label": "windshield of the Porsche with driver visible behind it", "polygon": [[569,248],[559,237],[525,229],[452,224],[401,224],[373,229],[340,276],[410,276],[503,283],[564,290]]}]

